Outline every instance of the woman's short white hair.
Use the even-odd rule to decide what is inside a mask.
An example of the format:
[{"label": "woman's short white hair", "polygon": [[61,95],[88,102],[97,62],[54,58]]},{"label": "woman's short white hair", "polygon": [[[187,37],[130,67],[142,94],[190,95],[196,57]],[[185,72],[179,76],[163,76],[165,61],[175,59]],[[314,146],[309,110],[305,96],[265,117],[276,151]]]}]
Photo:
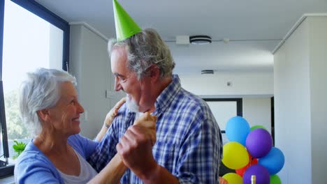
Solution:
[{"label": "woman's short white hair", "polygon": [[33,135],[39,135],[42,130],[37,112],[57,104],[62,82],[76,85],[75,77],[68,72],[38,68],[28,72],[27,79],[20,85],[20,114]]}]

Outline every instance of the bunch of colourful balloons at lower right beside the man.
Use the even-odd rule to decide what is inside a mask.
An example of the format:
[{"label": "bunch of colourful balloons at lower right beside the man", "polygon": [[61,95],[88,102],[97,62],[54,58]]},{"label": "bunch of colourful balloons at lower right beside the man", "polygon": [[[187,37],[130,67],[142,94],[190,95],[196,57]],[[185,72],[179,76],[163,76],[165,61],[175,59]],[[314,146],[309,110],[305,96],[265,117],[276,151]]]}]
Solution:
[{"label": "bunch of colourful balloons at lower right beside the man", "polygon": [[235,169],[236,173],[222,176],[228,183],[251,183],[251,176],[256,176],[257,184],[282,183],[276,175],[284,166],[284,154],[273,146],[273,138],[262,125],[249,127],[249,123],[240,116],[235,116],[226,123],[223,164]]}]

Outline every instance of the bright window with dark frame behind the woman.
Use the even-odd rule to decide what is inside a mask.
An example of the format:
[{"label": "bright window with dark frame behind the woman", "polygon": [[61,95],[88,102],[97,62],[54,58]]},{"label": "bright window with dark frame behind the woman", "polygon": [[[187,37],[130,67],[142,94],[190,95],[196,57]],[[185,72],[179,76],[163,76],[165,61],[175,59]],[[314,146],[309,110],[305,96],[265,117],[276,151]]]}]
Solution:
[{"label": "bright window with dark frame behind the woman", "polygon": [[69,26],[36,1],[0,0],[0,8],[1,177],[15,164],[13,140],[31,139],[18,109],[20,82],[35,68],[68,68]]}]

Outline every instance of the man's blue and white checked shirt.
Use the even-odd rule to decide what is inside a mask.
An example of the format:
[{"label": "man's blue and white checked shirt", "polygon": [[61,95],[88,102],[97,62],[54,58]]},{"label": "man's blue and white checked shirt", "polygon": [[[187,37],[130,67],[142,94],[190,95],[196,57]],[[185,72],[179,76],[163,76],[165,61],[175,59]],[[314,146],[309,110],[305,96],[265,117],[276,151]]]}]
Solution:
[{"label": "man's blue and white checked shirt", "polygon": [[[180,183],[219,183],[222,142],[218,124],[208,105],[182,89],[180,79],[171,82],[155,102],[157,142],[154,159]],[[116,144],[133,125],[136,114],[123,105],[89,162],[101,171],[117,153]],[[143,158],[140,158],[143,159]],[[120,183],[143,183],[129,169]]]}]

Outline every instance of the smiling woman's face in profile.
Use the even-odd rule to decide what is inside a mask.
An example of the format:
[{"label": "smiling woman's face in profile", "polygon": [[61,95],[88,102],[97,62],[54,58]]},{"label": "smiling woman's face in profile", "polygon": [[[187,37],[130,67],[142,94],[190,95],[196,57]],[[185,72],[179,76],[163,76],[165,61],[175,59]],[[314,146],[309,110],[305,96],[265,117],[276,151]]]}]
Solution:
[{"label": "smiling woman's face in profile", "polygon": [[80,114],[84,109],[78,102],[76,89],[71,82],[61,84],[60,98],[49,111],[55,131],[62,132],[64,135],[80,132]]}]

